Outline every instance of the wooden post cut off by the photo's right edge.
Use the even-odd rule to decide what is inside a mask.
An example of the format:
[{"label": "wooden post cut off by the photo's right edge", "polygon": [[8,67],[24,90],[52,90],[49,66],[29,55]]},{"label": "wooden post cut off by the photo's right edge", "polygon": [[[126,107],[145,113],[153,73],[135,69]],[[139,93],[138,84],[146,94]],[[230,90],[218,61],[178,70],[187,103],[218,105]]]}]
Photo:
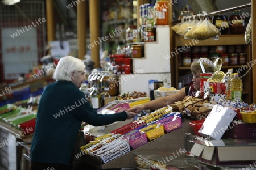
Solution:
[{"label": "wooden post cut off by the photo's right edge", "polygon": [[[256,2],[255,1],[251,1],[251,17],[252,17],[252,37],[251,37],[251,41],[252,41],[252,45],[251,45],[251,49],[252,49],[252,62],[255,64],[254,61],[256,61],[256,31],[254,31],[254,29],[256,29]],[[256,65],[253,65],[253,76],[252,76],[252,81],[253,81],[253,103],[256,103]]]}]

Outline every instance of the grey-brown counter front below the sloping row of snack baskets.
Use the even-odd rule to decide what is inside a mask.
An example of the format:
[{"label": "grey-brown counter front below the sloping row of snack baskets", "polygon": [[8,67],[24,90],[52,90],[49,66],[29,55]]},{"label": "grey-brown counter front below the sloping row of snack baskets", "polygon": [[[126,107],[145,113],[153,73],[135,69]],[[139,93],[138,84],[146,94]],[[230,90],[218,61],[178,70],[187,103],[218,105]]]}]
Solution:
[{"label": "grey-brown counter front below the sloping row of snack baskets", "polygon": [[95,169],[110,169],[110,168],[136,168],[137,164],[135,162],[134,154],[136,152],[145,151],[179,151],[184,150],[184,134],[192,133],[192,128],[189,125],[191,119],[183,118],[182,128],[176,129],[163,135],[162,137],[156,138],[147,144],[135,148],[127,152],[124,155],[119,156],[116,159],[110,160],[110,162],[103,163],[100,158],[95,156],[90,156],[84,154],[81,156],[81,161],[83,163],[93,165]]}]

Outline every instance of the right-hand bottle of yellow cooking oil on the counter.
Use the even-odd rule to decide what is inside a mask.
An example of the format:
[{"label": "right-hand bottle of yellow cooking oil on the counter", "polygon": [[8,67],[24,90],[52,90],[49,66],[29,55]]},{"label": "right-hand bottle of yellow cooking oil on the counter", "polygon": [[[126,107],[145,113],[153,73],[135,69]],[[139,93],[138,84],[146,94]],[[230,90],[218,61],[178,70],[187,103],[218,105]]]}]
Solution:
[{"label": "right-hand bottle of yellow cooking oil on the counter", "polygon": [[242,101],[242,79],[238,77],[238,73],[234,73],[234,77],[230,80],[231,84],[231,101]]}]

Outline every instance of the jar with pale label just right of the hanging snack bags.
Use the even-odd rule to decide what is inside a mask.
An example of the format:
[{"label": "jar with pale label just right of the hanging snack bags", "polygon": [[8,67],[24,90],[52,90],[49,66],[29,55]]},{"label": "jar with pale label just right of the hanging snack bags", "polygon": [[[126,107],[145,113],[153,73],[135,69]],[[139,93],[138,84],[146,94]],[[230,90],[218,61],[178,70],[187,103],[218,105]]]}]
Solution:
[{"label": "jar with pale label just right of the hanging snack bags", "polygon": [[214,15],[213,18],[213,25],[215,25],[218,30],[221,32],[221,34],[227,34],[228,33],[228,18],[225,15]]}]

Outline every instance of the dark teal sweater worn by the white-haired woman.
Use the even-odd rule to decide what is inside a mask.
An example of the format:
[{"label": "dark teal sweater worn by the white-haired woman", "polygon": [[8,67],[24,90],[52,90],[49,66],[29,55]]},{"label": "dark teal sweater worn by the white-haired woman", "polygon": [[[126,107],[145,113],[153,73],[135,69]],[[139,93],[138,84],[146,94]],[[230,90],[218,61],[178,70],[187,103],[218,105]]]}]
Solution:
[{"label": "dark teal sweater worn by the white-haired woman", "polygon": [[31,161],[69,165],[82,121],[102,126],[126,118],[126,112],[97,114],[72,82],[49,84],[38,106]]}]

